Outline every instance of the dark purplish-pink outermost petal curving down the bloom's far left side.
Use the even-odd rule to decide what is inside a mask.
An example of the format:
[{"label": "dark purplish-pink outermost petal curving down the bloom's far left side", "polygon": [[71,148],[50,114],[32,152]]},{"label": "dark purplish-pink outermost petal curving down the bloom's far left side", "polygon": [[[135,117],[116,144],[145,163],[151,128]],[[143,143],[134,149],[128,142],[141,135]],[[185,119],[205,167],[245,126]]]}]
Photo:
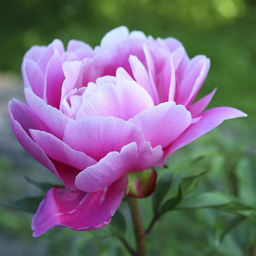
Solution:
[{"label": "dark purplish-pink outermost petal curving down the bloom's far left side", "polygon": [[[44,151],[30,138],[28,125],[35,122],[36,117],[33,116],[28,106],[21,102],[9,102],[9,116],[11,120],[11,127],[14,131],[19,143],[28,151],[33,158],[35,158],[39,163],[44,165],[53,174],[59,177],[55,166],[52,164],[50,159],[46,156]],[[31,120],[32,119],[32,120]],[[22,125],[24,126],[22,126]],[[33,126],[31,125],[31,128]]]}]

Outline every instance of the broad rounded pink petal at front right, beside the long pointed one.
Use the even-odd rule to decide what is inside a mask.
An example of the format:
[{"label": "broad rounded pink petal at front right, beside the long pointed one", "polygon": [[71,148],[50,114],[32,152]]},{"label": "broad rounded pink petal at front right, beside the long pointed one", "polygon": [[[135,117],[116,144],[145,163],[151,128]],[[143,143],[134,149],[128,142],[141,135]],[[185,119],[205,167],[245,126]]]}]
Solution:
[{"label": "broad rounded pink petal at front right, beside the long pointed one", "polygon": [[161,103],[144,110],[129,120],[142,130],[152,147],[170,145],[191,124],[191,114],[174,102]]}]

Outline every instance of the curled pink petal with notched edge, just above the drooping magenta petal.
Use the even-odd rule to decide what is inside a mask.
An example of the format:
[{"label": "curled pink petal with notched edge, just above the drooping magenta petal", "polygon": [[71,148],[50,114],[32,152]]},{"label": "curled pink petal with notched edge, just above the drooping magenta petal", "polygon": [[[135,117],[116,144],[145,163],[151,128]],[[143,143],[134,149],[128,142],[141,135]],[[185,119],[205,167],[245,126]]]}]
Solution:
[{"label": "curled pink petal with notched edge, just above the drooping magenta petal", "polygon": [[138,151],[136,143],[130,143],[119,152],[110,152],[96,165],[87,167],[76,178],[79,190],[96,192],[103,190],[129,172],[142,171],[157,163],[163,151],[158,146],[152,149],[149,142]]}]

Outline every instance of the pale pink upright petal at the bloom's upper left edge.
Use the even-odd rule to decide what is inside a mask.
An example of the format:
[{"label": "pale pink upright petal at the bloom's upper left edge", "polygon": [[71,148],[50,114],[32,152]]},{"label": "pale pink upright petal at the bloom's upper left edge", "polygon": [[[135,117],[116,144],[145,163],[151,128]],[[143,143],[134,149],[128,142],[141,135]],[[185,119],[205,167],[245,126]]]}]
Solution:
[{"label": "pale pink upright petal at the bloom's upper left edge", "polygon": [[44,75],[37,63],[32,59],[24,58],[22,76],[25,88],[29,87],[40,98],[44,96]]}]

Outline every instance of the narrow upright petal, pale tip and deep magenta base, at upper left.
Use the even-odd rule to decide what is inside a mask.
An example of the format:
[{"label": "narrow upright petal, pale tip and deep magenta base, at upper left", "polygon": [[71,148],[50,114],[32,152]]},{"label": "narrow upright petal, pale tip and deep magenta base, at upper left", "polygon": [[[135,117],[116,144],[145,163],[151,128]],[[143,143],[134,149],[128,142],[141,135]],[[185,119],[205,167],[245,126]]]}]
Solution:
[{"label": "narrow upright petal, pale tip and deep magenta base, at upper left", "polygon": [[58,51],[55,51],[50,58],[45,75],[45,93],[47,104],[59,109],[62,84],[64,81],[62,70],[62,59]]}]

